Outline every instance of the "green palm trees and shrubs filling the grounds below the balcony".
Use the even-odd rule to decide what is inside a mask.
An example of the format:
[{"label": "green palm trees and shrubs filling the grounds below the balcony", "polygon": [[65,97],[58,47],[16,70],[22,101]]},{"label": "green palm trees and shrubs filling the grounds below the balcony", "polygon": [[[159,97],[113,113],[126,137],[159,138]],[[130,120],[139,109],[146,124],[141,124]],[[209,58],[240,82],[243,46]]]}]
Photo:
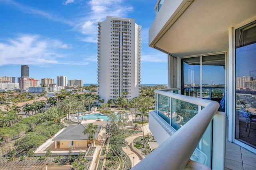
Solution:
[{"label": "green palm trees and shrubs filling the grounds below the balcony", "polygon": [[[116,104],[113,101],[108,101],[107,104],[102,104],[102,107],[112,107],[114,105],[119,106],[119,109],[128,109],[128,107],[135,108],[135,119],[138,119],[136,123],[143,124],[148,122],[149,108],[154,106],[154,88],[155,87],[142,87],[142,94],[140,97],[134,98],[132,101],[127,101],[120,96]],[[25,93],[24,93],[25,94]],[[23,95],[23,94],[22,94]],[[29,94],[30,95],[30,94]],[[4,96],[4,95],[3,95]],[[58,93],[57,97],[48,98],[45,102],[34,104],[27,104],[23,106],[23,111],[28,115],[27,118],[18,120],[16,113],[19,109],[16,105],[10,103],[10,98],[0,98],[0,104],[5,104],[8,111],[0,111],[0,167],[14,167],[20,165],[20,167],[28,165],[38,167],[42,169],[42,166],[49,165],[72,165],[73,169],[88,169],[90,160],[84,158],[83,153],[79,156],[51,156],[51,150],[48,150],[46,155],[36,157],[34,150],[42,145],[47,139],[52,137],[58,132],[64,125],[60,123],[60,119],[63,117],[69,117],[73,113],[77,113],[86,108],[90,109],[95,106],[95,101],[101,101],[98,95],[95,94],[71,94],[69,92]],[[29,98],[32,99],[31,96]],[[34,98],[34,96],[33,96]],[[9,102],[7,101],[9,100]],[[21,101],[21,100],[17,100]],[[46,103],[49,104],[49,109],[44,113],[42,108]],[[51,107],[52,106],[52,107]],[[140,108],[140,109],[139,109]],[[138,112],[139,111],[139,112]],[[38,112],[38,113],[37,113]],[[111,136],[110,148],[116,152],[120,158],[120,169],[128,170],[132,168],[132,162],[127,154],[124,153],[122,147],[127,146],[125,138],[130,135],[141,133],[143,129],[136,127],[136,129],[126,130],[128,117],[126,111],[120,111],[116,114],[112,114],[113,111],[102,110],[103,113],[110,115],[110,122],[106,125],[106,133]],[[30,116],[30,113],[36,113]],[[65,123],[71,124],[70,119],[65,119]],[[76,123],[76,122],[74,122]],[[143,139],[143,137],[142,137]],[[135,145],[141,147],[141,139],[138,139]],[[144,138],[144,145],[147,144],[147,136]],[[148,141],[150,141],[148,139]],[[107,142],[107,141],[106,141]],[[105,146],[106,146],[105,142]],[[148,149],[144,146],[143,149]],[[109,168],[109,164],[113,166],[119,165],[118,157],[111,153],[111,149],[108,149],[108,161],[103,165],[103,161],[99,160],[99,167]],[[140,148],[141,149],[141,148]],[[86,156],[92,156],[95,147],[88,149]],[[102,149],[100,155],[104,155],[107,149]],[[141,150],[142,153],[149,153],[150,151]],[[116,158],[118,163],[116,162]],[[16,168],[17,169],[17,168]]]}]

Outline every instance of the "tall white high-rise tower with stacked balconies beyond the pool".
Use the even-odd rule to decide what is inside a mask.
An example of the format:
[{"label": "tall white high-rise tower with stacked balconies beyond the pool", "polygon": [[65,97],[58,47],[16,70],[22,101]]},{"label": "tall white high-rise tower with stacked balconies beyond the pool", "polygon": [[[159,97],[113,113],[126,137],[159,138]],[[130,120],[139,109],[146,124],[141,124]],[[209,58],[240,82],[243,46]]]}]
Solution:
[{"label": "tall white high-rise tower with stacked balconies beyond the pool", "polygon": [[140,94],[140,29],[131,18],[98,22],[98,90],[105,102]]}]

